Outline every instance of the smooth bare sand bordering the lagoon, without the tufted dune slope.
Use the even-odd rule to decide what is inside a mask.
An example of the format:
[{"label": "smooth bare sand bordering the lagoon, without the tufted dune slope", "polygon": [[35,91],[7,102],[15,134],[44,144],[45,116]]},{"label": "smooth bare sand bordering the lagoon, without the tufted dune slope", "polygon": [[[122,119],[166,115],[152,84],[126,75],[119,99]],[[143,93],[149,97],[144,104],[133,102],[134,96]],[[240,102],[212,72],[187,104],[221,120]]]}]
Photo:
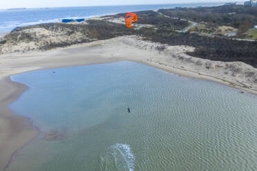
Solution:
[{"label": "smooth bare sand bordering the lagoon, without the tufted dune slope", "polygon": [[[135,37],[129,37],[129,39],[131,39],[132,43],[136,41]],[[180,48],[184,49],[186,47],[181,46]],[[187,50],[190,50],[190,48]],[[129,57],[127,56],[128,52],[131,55]],[[180,52],[179,49],[178,53],[182,55],[182,51]],[[162,62],[156,61],[156,57]],[[3,68],[0,68],[0,92],[3,94],[0,97],[0,110],[3,111],[0,114],[0,121],[6,123],[3,124],[4,134],[0,132],[0,170],[6,170],[8,165],[12,162],[13,157],[15,157],[15,154],[30,143],[30,141],[35,139],[40,132],[39,128],[35,127],[30,119],[15,115],[8,109],[8,104],[15,101],[28,89],[28,86],[12,81],[10,76],[13,74],[50,68],[133,61],[165,70],[166,72],[171,72],[178,76],[218,82],[257,95],[257,91],[242,88],[240,85],[236,85],[236,83],[226,79],[219,79],[218,77],[213,77],[208,74],[202,74],[197,70],[180,68],[181,63],[178,66],[176,65],[177,63],[173,63],[174,65],[172,66],[172,62],[169,63],[165,61],[169,59],[169,57],[167,57],[167,59],[165,57],[167,57],[167,54],[160,53],[157,50],[135,48],[131,45],[131,42],[126,42],[121,37],[69,46],[67,48],[57,48],[45,52],[0,55],[0,63],[3,64]],[[186,67],[186,63],[184,63],[184,66]],[[12,143],[10,143],[10,141]],[[1,166],[3,163],[6,164]]]}]

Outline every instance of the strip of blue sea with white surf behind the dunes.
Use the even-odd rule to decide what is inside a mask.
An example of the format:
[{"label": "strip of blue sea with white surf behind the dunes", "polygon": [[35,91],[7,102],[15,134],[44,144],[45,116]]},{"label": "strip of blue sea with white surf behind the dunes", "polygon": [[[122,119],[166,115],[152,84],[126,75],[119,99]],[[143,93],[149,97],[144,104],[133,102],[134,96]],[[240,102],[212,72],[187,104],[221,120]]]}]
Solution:
[{"label": "strip of blue sea with white surf behind the dunes", "polygon": [[129,6],[85,6],[85,7],[60,7],[60,8],[26,8],[23,10],[0,10],[0,32],[10,32],[21,26],[31,26],[40,23],[61,22],[62,19],[88,19],[107,14],[121,12],[136,12],[142,10],[156,10],[175,7],[220,6],[223,2],[216,3],[174,3],[154,5],[129,5]]}]

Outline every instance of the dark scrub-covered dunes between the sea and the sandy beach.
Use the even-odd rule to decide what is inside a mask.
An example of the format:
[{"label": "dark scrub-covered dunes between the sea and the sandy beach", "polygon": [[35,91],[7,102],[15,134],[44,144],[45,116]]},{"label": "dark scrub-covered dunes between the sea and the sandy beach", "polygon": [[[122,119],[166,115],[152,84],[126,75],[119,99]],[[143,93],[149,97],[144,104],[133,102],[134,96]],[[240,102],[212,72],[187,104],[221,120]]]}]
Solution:
[{"label": "dark scrub-covered dunes between the sea and the sandy beach", "polygon": [[[218,6],[135,12],[138,23],[124,25],[124,13],[82,23],[44,23],[15,28],[0,39],[0,53],[48,50],[101,39],[135,34],[171,46],[193,46],[193,57],[213,61],[242,61],[257,68],[257,8]],[[193,27],[187,30],[192,23]],[[187,31],[184,31],[187,30]],[[200,31],[198,31],[200,30]],[[227,37],[229,32],[237,32]]]}]

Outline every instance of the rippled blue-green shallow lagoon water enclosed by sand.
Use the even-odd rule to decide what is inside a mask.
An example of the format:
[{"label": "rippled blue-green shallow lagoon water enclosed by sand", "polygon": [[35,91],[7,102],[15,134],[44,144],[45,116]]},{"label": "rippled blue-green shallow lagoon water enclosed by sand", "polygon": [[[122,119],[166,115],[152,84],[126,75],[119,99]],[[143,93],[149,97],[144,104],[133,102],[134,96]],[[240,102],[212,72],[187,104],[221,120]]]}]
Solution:
[{"label": "rippled blue-green shallow lagoon water enclosed by sand", "polygon": [[40,133],[8,170],[257,170],[252,94],[128,61],[11,79]]}]

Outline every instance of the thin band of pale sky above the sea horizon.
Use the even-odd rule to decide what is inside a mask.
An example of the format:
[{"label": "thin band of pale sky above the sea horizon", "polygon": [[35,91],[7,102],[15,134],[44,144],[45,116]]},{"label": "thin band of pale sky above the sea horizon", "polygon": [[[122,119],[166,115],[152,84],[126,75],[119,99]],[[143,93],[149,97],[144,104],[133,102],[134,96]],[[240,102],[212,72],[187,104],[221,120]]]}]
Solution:
[{"label": "thin band of pale sky above the sea horizon", "polygon": [[[226,0],[209,0],[219,2]],[[227,0],[231,2],[233,0]],[[236,1],[236,0],[235,0]],[[41,8],[41,7],[68,7],[68,6],[113,6],[135,4],[170,4],[170,3],[202,3],[206,0],[0,0],[0,9],[6,8]]]}]

